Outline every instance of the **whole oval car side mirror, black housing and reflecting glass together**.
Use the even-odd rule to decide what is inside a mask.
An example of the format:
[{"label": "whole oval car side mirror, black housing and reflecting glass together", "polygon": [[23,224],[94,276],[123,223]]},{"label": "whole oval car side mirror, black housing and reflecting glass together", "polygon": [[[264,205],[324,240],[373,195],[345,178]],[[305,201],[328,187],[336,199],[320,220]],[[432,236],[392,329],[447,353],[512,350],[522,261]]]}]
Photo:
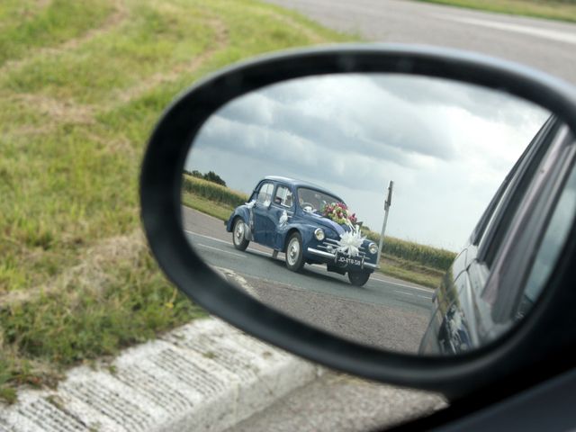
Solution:
[{"label": "whole oval car side mirror, black housing and reflecting glass together", "polygon": [[[574,130],[571,85],[493,58],[276,54],[168,107],[142,167],[142,220],[170,280],[239,329],[351,374],[462,396],[576,341]],[[227,183],[186,188],[225,214],[204,227],[211,255],[184,233],[193,169]],[[263,179],[272,199],[290,191],[310,211],[254,214],[247,196]],[[260,289],[213,266],[238,266]]]}]

